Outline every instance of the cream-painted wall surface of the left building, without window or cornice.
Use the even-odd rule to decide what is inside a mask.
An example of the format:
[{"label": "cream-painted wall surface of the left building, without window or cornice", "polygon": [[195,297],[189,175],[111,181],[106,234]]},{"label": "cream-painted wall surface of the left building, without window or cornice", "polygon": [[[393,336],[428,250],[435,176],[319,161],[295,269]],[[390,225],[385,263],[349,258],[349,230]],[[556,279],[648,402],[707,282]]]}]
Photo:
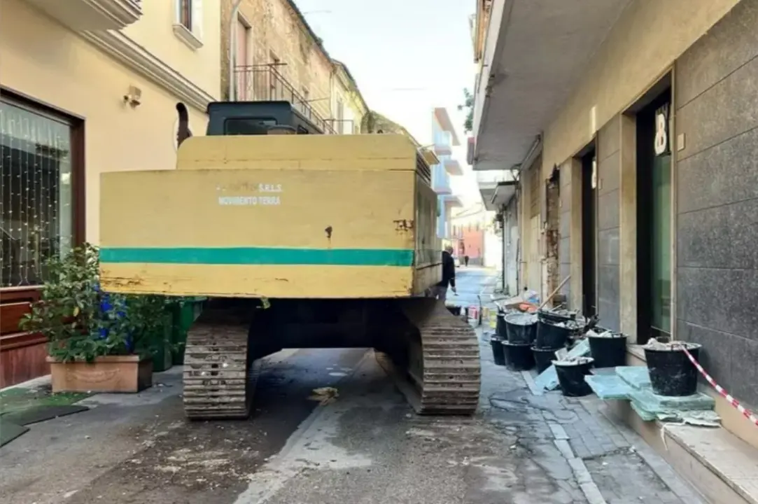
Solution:
[{"label": "cream-painted wall surface of the left building, without window or cornice", "polygon": [[[213,2],[206,3],[212,10]],[[170,11],[170,4],[168,0],[143,2],[146,14],[134,30],[139,23],[153,22],[151,13],[157,5],[164,5],[164,10]],[[206,19],[208,17],[212,19],[211,14]],[[168,17],[165,20],[168,21]],[[151,42],[149,32],[140,35],[140,43],[148,49],[181,43],[161,38],[163,32],[156,33]],[[212,31],[206,32],[211,40],[206,41],[203,50],[207,49],[208,54],[215,52],[218,58],[218,42],[213,41],[211,35]],[[186,45],[182,47],[183,52],[177,48],[174,56],[166,55],[174,58],[168,64],[189,71],[193,64],[198,64],[195,59],[198,53]],[[218,65],[207,67],[206,64],[205,60],[198,64],[199,71],[207,76],[206,91],[218,95],[218,70],[214,70]],[[2,0],[0,65],[0,85],[86,121],[86,238],[98,243],[99,174],[174,167],[174,106],[179,99],[152,81],[137,76],[23,0]],[[211,79],[217,83],[211,86]],[[122,101],[129,86],[142,89],[142,105],[137,108],[124,105]],[[205,111],[189,108],[189,115],[193,133],[204,134]]]}]

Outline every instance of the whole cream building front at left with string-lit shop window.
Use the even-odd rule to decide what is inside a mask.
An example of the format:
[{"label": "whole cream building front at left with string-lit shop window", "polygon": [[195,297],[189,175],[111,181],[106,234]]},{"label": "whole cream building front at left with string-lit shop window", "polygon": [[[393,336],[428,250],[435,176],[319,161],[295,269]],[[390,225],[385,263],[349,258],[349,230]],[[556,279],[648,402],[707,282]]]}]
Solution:
[{"label": "whole cream building front at left with string-lit shop window", "polygon": [[205,130],[220,26],[210,0],[3,0],[0,387],[48,372],[18,322],[46,258],[98,243],[99,174],[173,168],[177,102]]}]

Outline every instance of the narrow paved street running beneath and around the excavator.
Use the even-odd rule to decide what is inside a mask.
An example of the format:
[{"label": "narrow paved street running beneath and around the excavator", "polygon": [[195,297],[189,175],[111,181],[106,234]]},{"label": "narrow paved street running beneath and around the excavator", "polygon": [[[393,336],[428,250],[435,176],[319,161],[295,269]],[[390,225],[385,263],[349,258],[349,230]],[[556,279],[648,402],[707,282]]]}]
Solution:
[{"label": "narrow paved street running beneath and around the excavator", "polygon": [[[490,271],[459,268],[477,304]],[[492,362],[475,418],[418,417],[362,349],[267,359],[249,421],[188,423],[178,368],[138,396],[33,426],[0,449],[0,502],[569,504],[700,502],[594,399],[531,394]],[[339,397],[319,406],[316,387]]]}]

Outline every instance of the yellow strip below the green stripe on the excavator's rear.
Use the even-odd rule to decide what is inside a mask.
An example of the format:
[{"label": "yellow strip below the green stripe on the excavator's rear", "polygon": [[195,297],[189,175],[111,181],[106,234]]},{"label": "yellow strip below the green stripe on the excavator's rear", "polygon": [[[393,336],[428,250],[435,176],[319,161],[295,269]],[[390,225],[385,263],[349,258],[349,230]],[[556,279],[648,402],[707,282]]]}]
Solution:
[{"label": "yellow strip below the green stripe on the excavator's rear", "polygon": [[106,264],[103,289],[171,296],[383,298],[412,293],[412,268],[323,265]]}]

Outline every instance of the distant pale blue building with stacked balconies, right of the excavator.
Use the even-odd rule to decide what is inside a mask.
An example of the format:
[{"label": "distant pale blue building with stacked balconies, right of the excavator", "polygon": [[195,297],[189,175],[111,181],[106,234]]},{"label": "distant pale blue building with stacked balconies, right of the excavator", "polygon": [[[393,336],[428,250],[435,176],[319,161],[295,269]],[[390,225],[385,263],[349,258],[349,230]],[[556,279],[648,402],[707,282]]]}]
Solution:
[{"label": "distant pale blue building with stacked balconies, right of the excavator", "polygon": [[437,193],[437,236],[442,239],[443,245],[453,245],[453,249],[456,249],[450,218],[453,208],[459,208],[462,203],[453,193],[450,177],[463,174],[460,163],[453,157],[453,147],[460,146],[461,142],[446,108],[434,108],[431,133],[434,154],[440,161],[431,167],[431,185]]}]

